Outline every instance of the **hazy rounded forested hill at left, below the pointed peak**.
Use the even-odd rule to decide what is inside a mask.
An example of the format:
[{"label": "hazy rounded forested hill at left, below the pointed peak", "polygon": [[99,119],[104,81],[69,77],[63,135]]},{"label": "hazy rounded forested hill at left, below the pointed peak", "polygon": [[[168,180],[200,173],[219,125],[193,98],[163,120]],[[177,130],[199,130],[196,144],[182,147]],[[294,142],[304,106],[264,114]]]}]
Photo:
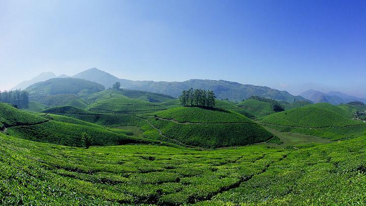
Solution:
[{"label": "hazy rounded forested hill at left, below the pointed peak", "polygon": [[104,90],[104,86],[92,81],[76,78],[53,78],[28,86],[30,100],[38,100],[49,95],[74,94],[80,92],[96,93]]}]

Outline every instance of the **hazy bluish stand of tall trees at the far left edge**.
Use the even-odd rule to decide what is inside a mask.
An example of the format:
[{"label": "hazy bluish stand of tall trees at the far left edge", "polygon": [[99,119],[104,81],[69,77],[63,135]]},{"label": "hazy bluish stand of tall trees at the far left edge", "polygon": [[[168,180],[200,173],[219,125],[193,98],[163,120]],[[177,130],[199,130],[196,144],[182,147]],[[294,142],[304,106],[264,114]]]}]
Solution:
[{"label": "hazy bluish stand of tall trees at the far left edge", "polygon": [[28,92],[26,91],[0,91],[0,102],[13,104],[17,108],[28,108]]}]

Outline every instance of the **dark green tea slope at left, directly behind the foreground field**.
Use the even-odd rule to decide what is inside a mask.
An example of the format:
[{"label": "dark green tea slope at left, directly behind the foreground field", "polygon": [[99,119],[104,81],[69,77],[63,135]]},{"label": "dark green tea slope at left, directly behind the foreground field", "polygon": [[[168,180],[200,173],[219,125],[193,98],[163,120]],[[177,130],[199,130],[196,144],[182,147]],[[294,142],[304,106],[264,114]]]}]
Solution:
[{"label": "dark green tea slope at left, directly behind the foreground field", "polygon": [[83,146],[83,133],[89,134],[93,145],[119,145],[127,143],[156,143],[148,140],[116,133],[93,124],[75,124],[78,120],[56,121],[52,116],[36,115],[0,103],[0,130],[12,136],[69,146]]}]

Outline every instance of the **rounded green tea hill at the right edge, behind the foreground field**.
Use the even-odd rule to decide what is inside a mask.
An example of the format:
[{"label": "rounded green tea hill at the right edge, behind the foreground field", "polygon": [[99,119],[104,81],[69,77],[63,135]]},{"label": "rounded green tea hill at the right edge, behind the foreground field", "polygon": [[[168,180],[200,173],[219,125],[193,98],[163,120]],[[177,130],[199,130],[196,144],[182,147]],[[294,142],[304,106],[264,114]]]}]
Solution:
[{"label": "rounded green tea hill at the right edge, behind the foreground field", "polygon": [[318,103],[267,116],[259,121],[279,131],[314,135],[333,140],[353,138],[366,133],[366,124],[349,119],[344,109]]}]

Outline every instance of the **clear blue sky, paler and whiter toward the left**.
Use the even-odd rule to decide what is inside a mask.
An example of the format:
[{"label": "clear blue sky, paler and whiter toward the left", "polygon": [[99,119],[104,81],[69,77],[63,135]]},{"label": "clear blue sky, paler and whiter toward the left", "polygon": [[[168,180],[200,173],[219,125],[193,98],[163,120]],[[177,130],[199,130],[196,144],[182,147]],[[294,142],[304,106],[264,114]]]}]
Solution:
[{"label": "clear blue sky, paler and whiter toward the left", "polygon": [[93,67],[366,97],[366,1],[0,0],[0,90]]}]

